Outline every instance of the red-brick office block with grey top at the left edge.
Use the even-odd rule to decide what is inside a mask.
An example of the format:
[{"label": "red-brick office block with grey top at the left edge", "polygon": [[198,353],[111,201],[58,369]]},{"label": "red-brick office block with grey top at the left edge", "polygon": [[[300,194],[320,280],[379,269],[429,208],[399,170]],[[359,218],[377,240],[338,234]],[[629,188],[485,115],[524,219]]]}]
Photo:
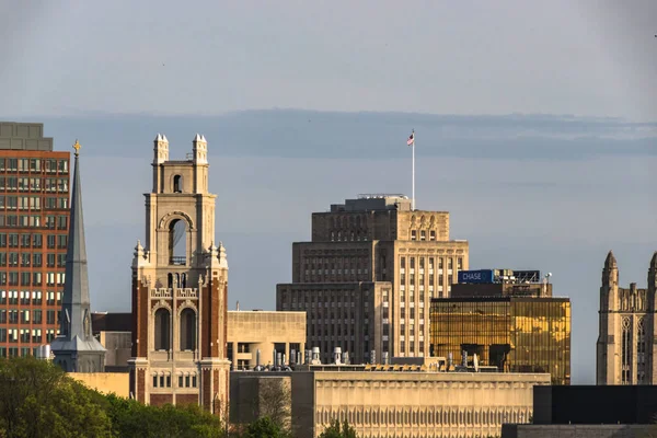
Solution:
[{"label": "red-brick office block with grey top at the left edge", "polygon": [[0,123],[0,357],[58,334],[69,230],[69,152],[43,124]]}]

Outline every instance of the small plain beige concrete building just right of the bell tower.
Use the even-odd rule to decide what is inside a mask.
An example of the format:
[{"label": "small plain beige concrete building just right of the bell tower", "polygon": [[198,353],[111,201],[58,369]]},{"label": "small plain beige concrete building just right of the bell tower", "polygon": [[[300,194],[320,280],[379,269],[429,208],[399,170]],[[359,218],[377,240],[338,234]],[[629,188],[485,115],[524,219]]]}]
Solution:
[{"label": "small plain beige concrete building just right of the bell tower", "polygon": [[228,312],[228,359],[232,369],[304,362],[306,312]]}]

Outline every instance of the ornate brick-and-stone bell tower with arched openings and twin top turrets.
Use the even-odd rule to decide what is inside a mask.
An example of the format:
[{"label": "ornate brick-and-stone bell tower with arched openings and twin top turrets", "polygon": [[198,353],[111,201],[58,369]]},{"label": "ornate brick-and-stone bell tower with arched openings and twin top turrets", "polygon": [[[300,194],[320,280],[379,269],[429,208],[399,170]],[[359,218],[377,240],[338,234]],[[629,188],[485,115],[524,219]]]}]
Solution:
[{"label": "ornate brick-and-stone bell tower with arched openings and twin top turrets", "polygon": [[140,402],[228,407],[228,263],[215,245],[216,195],[208,192],[207,141],[169,159],[154,140],[152,192],[146,194],[146,242],[132,260],[130,392]]}]

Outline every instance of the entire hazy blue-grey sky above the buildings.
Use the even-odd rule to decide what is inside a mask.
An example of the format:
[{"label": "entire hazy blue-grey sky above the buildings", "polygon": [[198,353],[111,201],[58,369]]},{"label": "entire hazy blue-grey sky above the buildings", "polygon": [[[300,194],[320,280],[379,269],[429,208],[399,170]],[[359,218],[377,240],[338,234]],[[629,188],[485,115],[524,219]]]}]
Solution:
[{"label": "entire hazy blue-grey sky above the buildings", "polygon": [[[82,178],[94,310],[129,310],[152,139],[208,139],[231,309],[275,308],[310,215],[358,193],[449,210],[471,267],[552,272],[595,379],[600,272],[655,244],[657,3],[0,0],[0,119]],[[258,275],[253,275],[257,272]]]}]

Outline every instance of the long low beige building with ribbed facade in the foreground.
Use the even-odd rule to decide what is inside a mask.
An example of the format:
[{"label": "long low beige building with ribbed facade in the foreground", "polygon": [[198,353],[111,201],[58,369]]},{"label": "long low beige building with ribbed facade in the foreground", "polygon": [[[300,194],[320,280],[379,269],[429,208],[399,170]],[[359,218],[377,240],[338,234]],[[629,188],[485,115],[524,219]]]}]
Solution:
[{"label": "long low beige building with ribbed facade in the foreground", "polygon": [[[322,369],[327,369],[324,366]],[[337,368],[343,369],[341,371]],[[231,419],[254,419],[262,380],[288,387],[298,437],[318,437],[333,420],[348,420],[361,438],[499,436],[504,423],[532,416],[534,385],[549,374],[364,371],[231,372]]]}]

